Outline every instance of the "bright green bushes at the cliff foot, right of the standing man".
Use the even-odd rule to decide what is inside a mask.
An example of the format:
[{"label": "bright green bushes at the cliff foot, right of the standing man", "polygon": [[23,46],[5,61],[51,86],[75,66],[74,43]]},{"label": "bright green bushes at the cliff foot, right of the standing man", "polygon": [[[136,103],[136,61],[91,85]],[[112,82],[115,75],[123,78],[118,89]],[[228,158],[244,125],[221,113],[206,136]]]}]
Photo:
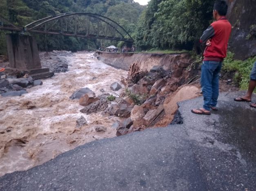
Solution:
[{"label": "bright green bushes at the cliff foot, right of the standing man", "polygon": [[233,59],[234,54],[227,53],[227,57],[223,62],[223,71],[235,72],[234,81],[237,82],[241,89],[248,89],[248,82],[250,80],[250,72],[254,63],[256,62],[256,56],[249,58],[245,61]]}]

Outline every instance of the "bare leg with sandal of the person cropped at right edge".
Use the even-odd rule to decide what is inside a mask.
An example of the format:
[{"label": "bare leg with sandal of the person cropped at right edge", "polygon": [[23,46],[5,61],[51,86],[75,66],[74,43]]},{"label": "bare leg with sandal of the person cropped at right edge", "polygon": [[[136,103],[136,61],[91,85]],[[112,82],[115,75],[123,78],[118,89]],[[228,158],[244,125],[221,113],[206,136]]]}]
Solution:
[{"label": "bare leg with sandal of the person cropped at right edge", "polygon": [[256,87],[256,62],[254,63],[254,67],[252,68],[252,72],[250,74],[250,82],[247,93],[241,97],[234,99],[235,101],[251,101],[252,100],[252,93]]}]

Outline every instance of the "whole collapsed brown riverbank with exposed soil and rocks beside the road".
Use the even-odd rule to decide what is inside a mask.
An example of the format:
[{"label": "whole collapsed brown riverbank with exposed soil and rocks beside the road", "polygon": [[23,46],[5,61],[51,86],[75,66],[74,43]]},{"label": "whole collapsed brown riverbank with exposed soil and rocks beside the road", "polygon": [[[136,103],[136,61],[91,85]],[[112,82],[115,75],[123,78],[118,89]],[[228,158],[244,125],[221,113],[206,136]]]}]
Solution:
[{"label": "whole collapsed brown riverbank with exposed soil and rocks beside the road", "polygon": [[[177,102],[198,97],[200,94],[200,65],[184,54],[105,53],[97,52],[99,60],[129,72],[121,82],[125,86],[124,101],[117,107],[123,123],[117,135],[167,126],[174,119]],[[221,83],[220,89],[229,90]],[[114,113],[114,112],[113,112]]]}]

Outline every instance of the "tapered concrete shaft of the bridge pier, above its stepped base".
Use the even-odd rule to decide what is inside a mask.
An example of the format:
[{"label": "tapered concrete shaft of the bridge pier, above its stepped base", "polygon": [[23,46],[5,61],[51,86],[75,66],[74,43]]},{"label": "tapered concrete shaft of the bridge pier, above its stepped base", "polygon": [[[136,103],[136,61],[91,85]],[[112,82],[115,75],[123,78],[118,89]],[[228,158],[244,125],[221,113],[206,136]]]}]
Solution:
[{"label": "tapered concrete shaft of the bridge pier, above its stepped base", "polygon": [[7,51],[10,67],[20,70],[42,68],[38,47],[29,35],[7,34]]}]

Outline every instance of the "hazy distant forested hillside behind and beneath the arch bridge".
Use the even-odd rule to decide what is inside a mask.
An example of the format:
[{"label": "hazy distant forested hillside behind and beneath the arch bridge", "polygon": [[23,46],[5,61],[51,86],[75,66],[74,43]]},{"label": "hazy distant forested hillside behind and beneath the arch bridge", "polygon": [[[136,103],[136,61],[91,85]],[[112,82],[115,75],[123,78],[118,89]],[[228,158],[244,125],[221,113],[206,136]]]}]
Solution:
[{"label": "hazy distant forested hillside behind and beneath the arch bridge", "polygon": [[[12,23],[24,26],[49,15],[60,13],[97,13],[109,17],[123,26],[130,34],[135,34],[136,24],[144,10],[133,0],[0,0],[1,15]],[[0,54],[6,54],[5,33],[0,31]],[[76,37],[35,35],[40,50],[95,50],[100,47],[96,39]],[[118,42],[104,41],[104,46]],[[119,45],[122,43],[119,42]]]}]

